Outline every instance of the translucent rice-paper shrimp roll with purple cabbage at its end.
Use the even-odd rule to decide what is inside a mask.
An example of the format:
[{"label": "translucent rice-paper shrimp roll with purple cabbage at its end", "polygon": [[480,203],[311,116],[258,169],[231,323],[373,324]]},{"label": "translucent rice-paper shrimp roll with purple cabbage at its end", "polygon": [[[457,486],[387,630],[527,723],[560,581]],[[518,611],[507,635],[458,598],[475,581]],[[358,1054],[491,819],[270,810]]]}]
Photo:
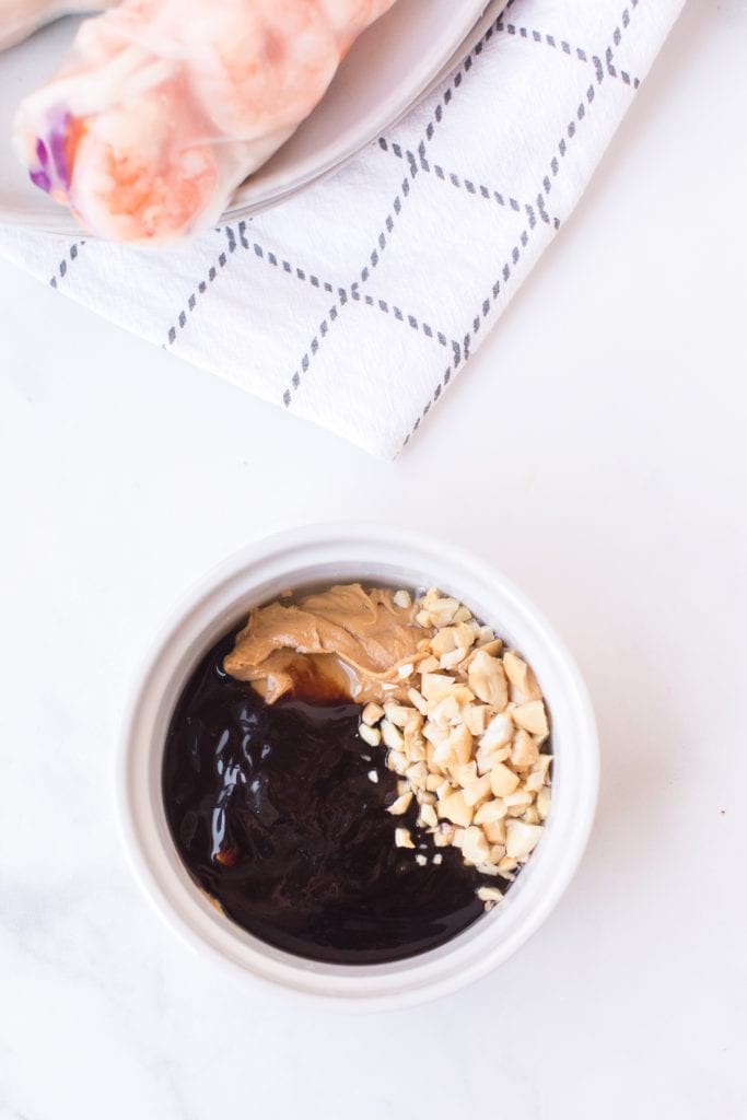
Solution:
[{"label": "translucent rice-paper shrimp roll with purple cabbage at its end", "polygon": [[124,0],[21,104],[16,148],[87,230],[165,243],[214,224],[394,0]]}]

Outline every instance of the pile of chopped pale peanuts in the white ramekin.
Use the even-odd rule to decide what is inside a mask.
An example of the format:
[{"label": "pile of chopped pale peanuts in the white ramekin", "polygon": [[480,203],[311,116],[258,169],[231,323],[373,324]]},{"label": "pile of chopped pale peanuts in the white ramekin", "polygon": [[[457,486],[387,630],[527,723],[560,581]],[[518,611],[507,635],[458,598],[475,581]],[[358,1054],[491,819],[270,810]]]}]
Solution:
[{"label": "pile of chopped pale peanuts in the white ramekin", "polygon": [[[412,600],[400,590],[394,601]],[[415,606],[431,636],[398,666],[403,688],[391,685],[398,699],[364,708],[361,738],[383,744],[386,765],[400,777],[390,813],[401,816],[414,800],[417,825],[437,848],[459,848],[483,875],[513,879],[550,811],[542,693],[530,666],[456,599],[432,588]],[[375,771],[370,776],[375,781]],[[395,829],[394,842],[415,848],[407,828]],[[415,859],[428,861],[422,852]],[[491,909],[502,894],[482,886],[477,896]]]}]

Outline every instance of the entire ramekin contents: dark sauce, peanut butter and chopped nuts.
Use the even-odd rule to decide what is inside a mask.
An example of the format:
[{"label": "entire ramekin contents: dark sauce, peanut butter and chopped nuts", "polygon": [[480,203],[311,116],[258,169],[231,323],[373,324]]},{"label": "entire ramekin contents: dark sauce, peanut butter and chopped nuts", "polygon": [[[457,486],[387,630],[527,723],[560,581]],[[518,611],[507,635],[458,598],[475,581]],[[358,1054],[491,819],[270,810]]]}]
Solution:
[{"label": "entire ramekin contents: dark sauce, peanut butter and chopped nuts", "polygon": [[501,902],[550,810],[527,663],[436,589],[338,585],[251,610],[177,703],[177,850],[239,925],[312,960],[433,949]]}]

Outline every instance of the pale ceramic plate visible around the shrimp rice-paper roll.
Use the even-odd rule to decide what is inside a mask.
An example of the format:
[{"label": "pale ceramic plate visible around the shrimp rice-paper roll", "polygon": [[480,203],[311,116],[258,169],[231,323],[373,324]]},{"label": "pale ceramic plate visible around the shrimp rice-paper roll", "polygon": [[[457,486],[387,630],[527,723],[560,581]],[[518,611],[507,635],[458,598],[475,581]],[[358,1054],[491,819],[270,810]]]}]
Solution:
[{"label": "pale ceramic plate visible around the shrimp rice-paper roll", "polygon": [[[363,35],[327,96],[289,142],[236,192],[232,217],[256,213],[339,167],[402,116],[495,18],[505,0],[399,0]],[[58,20],[0,55],[0,221],[74,233],[67,212],[26,177],[10,148],[16,105],[52,74],[80,24]]]}]

